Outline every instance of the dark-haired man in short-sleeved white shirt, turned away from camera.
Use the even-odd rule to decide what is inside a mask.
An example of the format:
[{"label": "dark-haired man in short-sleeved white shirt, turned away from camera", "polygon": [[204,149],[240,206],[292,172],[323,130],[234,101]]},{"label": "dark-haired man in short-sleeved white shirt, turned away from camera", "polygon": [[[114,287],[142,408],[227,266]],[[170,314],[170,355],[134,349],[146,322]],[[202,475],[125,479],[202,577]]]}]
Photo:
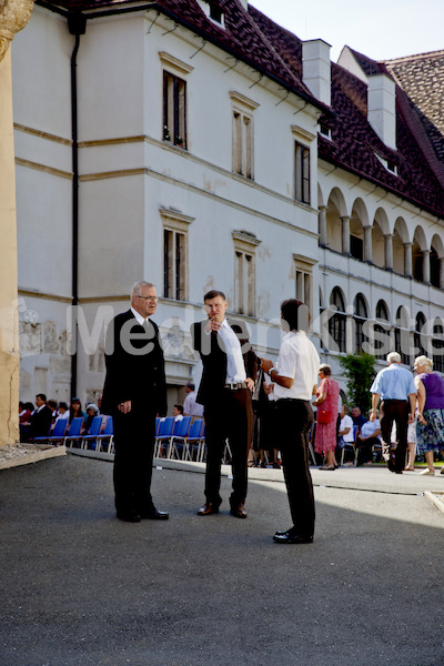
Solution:
[{"label": "dark-haired man in short-sleeved white shirt, turned away from camera", "polygon": [[283,544],[309,544],[314,534],[313,483],[309,468],[309,432],[313,423],[310,400],[317,387],[320,357],[303,330],[309,323],[304,303],[296,299],[284,301],[281,319],[286,334],[278,366],[274,369],[271,361],[262,359],[261,367],[274,383],[276,431],[293,526],[276,532],[273,539]]}]

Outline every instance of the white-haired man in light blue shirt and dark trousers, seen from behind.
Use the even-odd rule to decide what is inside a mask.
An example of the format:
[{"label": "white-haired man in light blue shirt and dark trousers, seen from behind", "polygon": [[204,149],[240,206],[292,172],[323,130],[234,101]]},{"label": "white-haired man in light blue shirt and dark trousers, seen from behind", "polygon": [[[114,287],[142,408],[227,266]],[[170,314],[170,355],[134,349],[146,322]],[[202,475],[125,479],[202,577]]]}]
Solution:
[{"label": "white-haired man in light blue shirt and dark trousers, seen from behind", "polygon": [[[401,367],[401,355],[391,352],[387,355],[389,367],[381,370],[370,389],[372,411],[370,421],[375,421],[376,408],[381,398],[381,437],[390,450],[389,470],[402,474],[405,466],[407,448],[407,426],[415,418],[416,386],[412,373]],[[396,423],[396,448],[391,447],[393,424]]]}]

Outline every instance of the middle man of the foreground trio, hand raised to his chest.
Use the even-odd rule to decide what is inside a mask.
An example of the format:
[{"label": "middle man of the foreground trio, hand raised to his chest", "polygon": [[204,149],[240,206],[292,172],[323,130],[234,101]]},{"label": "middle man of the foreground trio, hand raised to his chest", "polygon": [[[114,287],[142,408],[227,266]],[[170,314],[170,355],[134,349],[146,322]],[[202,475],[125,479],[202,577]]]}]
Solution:
[{"label": "middle man of the foreground trio, hand raised to his chest", "polygon": [[194,349],[199,352],[203,373],[196,402],[203,404],[206,442],[206,502],[198,515],[219,513],[221,461],[229,437],[232,454],[233,492],[231,514],[246,518],[246,456],[252,436],[251,392],[256,377],[258,357],[241,321],[228,321],[223,292],[212,290],[204,295],[209,319],[191,326]]}]

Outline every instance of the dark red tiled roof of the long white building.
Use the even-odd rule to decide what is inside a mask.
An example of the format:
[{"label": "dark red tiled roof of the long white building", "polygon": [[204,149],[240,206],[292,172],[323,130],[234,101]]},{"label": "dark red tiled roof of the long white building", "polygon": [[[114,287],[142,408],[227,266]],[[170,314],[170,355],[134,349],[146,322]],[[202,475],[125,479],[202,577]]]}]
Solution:
[{"label": "dark red tiled roof of the long white building", "polygon": [[[279,81],[311,103],[324,109],[322,121],[331,128],[332,140],[320,135],[319,157],[346,171],[381,185],[418,208],[444,216],[444,174],[433,141],[444,147],[437,129],[431,135],[414,103],[396,87],[397,150],[384,145],[367,121],[366,84],[339,64],[332,63],[332,110],[313,100],[302,81],[302,42],[254,7],[245,11],[240,0],[218,0],[225,14],[225,29],[210,21],[195,0],[37,0],[53,9],[69,11],[120,12],[130,9],[158,9],[204,40],[225,50],[228,62],[242,60],[260,74]],[[394,71],[390,62],[375,62],[353,51],[367,75]],[[230,57],[232,60],[230,60]],[[443,148],[444,150],[444,148]],[[397,167],[387,171],[375,152]]]}]

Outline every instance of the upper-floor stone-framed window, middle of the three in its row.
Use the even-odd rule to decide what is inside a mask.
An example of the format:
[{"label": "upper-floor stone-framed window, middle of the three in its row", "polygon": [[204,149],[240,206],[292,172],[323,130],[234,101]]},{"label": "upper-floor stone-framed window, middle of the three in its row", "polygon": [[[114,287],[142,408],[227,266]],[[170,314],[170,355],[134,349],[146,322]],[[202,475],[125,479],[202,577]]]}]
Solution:
[{"label": "upper-floor stone-framed window, middle of the three in its row", "polygon": [[232,161],[233,172],[254,179],[254,125],[253,111],[256,102],[245,95],[231,91],[232,103]]}]

